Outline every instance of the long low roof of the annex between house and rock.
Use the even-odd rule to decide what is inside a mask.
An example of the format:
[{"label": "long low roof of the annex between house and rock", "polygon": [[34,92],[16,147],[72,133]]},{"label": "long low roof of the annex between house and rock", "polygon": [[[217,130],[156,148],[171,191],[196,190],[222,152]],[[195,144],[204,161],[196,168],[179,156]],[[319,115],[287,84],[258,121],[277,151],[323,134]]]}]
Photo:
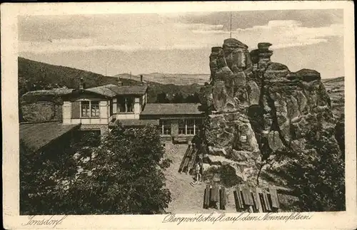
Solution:
[{"label": "long low roof of the annex between house and rock", "polygon": [[149,103],[145,105],[141,115],[198,115],[200,104],[193,103]]}]

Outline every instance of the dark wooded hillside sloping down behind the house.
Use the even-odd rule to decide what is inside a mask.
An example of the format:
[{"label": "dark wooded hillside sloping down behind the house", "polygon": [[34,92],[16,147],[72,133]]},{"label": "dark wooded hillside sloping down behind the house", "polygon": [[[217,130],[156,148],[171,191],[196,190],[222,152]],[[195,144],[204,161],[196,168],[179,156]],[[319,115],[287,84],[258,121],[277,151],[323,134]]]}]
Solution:
[{"label": "dark wooded hillside sloping down behind the house", "polygon": [[[54,66],[38,61],[31,61],[26,58],[18,58],[19,65],[19,97],[29,91],[46,90],[51,88],[78,88],[80,79],[84,78],[86,88],[99,85],[116,84],[118,77],[108,77],[98,73],[92,73],[86,70],[69,68],[66,66]],[[124,85],[138,84],[140,77],[131,78],[130,75],[119,75]],[[147,76],[147,75],[146,75]],[[184,97],[198,92],[201,85],[193,83],[191,85],[162,84],[150,81],[144,75],[144,80],[149,84],[148,100],[149,103],[156,101],[156,95],[166,93],[168,98],[173,98],[174,94],[182,93]]]}]

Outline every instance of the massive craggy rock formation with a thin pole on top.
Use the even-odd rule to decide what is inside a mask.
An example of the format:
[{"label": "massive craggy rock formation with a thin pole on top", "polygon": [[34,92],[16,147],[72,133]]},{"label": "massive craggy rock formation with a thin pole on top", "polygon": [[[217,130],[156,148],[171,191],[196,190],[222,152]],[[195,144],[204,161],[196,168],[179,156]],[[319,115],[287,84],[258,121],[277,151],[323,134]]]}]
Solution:
[{"label": "massive craggy rock formation with a thin pole on top", "polygon": [[[207,117],[205,169],[228,165],[241,182],[256,184],[264,162],[284,150],[311,152],[313,138],[334,137],[331,102],[316,70],[292,73],[271,61],[271,43],[248,46],[234,38],[211,50],[211,82],[201,88]],[[280,164],[281,162],[276,162]]]}]

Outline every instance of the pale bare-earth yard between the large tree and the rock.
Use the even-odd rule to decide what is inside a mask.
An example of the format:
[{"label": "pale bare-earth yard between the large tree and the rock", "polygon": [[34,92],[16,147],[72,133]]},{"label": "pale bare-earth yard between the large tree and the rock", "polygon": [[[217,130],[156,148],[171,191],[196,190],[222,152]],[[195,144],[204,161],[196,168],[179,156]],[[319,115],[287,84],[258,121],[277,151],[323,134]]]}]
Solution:
[{"label": "pale bare-earth yard between the large tree and the rock", "polygon": [[[188,145],[173,145],[166,143],[166,157],[172,160],[168,169],[164,172],[166,187],[171,192],[171,203],[166,211],[175,214],[211,213],[222,212],[217,209],[203,209],[203,194],[206,184],[196,184],[193,187],[193,177],[184,172],[178,172],[183,155]],[[227,207],[225,212],[236,212],[234,207],[233,192],[227,192]],[[233,205],[232,205],[233,204]]]}]

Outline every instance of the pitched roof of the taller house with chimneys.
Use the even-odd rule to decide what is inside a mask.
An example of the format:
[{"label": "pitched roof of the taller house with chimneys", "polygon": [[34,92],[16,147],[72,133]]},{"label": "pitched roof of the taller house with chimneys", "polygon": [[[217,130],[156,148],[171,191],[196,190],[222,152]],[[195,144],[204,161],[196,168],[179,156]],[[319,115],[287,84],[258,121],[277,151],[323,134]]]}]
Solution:
[{"label": "pitched roof of the taller house with chimneys", "polygon": [[85,91],[104,95],[106,97],[115,97],[116,95],[144,95],[147,85],[102,85],[94,88],[87,88]]}]

